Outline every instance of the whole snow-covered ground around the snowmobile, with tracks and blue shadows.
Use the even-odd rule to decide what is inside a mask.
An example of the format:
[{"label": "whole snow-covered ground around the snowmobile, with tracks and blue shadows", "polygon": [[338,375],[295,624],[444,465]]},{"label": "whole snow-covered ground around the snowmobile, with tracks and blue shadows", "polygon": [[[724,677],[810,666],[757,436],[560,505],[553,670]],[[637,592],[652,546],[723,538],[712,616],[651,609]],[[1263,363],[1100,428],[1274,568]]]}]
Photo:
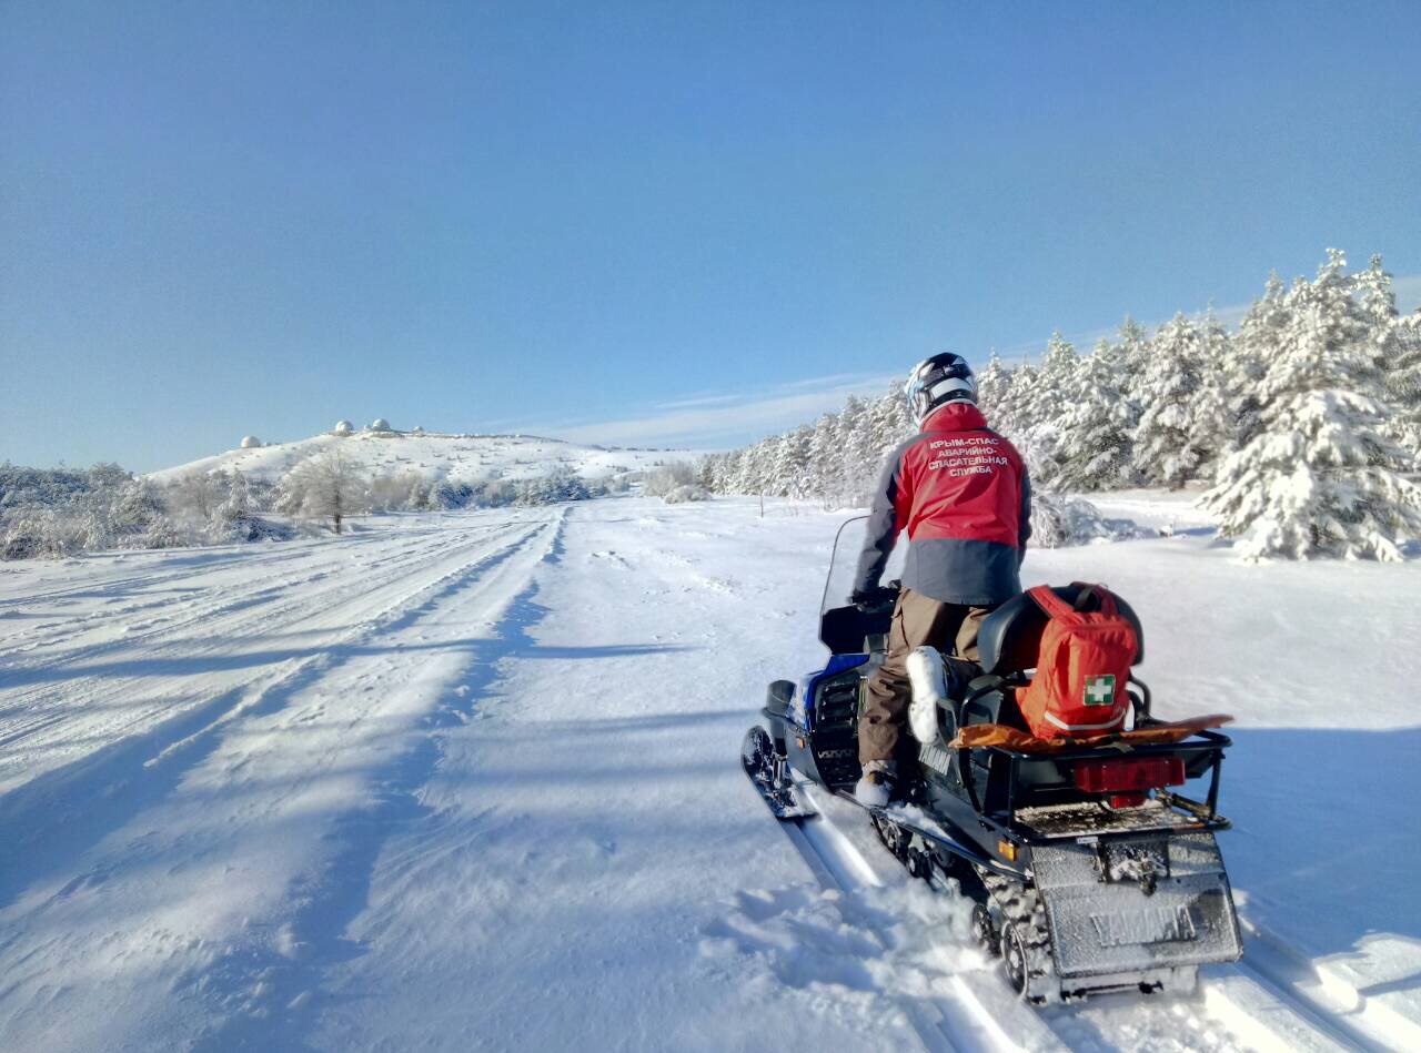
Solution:
[{"label": "whole snow-covered ground around the snowmobile, with tracks and blue shadows", "polygon": [[1101,506],[1174,536],[1029,584],[1239,719],[1248,951],[1192,998],[1037,1013],[861,813],[786,836],[737,747],[843,514],[610,499],[0,568],[0,1047],[1421,1047],[1421,566]]}]

